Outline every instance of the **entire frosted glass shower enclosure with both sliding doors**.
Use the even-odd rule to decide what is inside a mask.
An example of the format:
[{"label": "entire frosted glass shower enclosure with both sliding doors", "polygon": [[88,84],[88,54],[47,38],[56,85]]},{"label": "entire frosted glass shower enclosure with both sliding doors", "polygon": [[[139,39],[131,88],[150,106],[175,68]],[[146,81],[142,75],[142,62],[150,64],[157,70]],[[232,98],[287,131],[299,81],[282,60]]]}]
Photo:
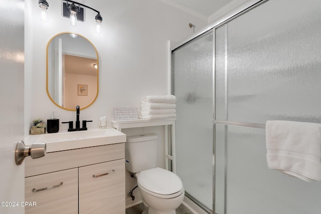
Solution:
[{"label": "entire frosted glass shower enclosure with both sliding doors", "polygon": [[242,9],[172,51],[176,172],[208,212],[319,213],[320,182],[268,169],[265,123],[321,123],[321,3]]}]

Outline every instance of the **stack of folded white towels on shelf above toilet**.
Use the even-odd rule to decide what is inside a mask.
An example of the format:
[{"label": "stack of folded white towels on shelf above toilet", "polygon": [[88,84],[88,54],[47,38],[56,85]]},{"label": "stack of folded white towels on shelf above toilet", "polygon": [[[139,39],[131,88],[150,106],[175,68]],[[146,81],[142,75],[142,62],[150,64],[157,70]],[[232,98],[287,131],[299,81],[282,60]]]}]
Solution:
[{"label": "stack of folded white towels on shelf above toilet", "polygon": [[143,97],[140,107],[140,119],[176,120],[176,97],[174,95]]}]

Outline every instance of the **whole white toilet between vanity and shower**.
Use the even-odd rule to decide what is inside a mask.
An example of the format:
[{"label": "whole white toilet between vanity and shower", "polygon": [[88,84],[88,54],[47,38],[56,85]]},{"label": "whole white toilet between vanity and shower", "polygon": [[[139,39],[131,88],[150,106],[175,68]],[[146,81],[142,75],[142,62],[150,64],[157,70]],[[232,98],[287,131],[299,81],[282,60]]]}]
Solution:
[{"label": "whole white toilet between vanity and shower", "polygon": [[126,169],[136,173],[145,206],[143,214],[175,214],[184,199],[182,180],[175,173],[156,167],[157,135],[128,136],[125,143]]}]

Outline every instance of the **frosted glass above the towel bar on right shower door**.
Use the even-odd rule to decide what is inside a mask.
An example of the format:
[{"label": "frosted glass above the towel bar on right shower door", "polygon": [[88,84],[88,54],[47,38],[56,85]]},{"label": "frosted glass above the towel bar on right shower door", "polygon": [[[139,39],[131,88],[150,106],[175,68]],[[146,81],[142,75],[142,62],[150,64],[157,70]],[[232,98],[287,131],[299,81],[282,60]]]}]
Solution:
[{"label": "frosted glass above the towel bar on right shower door", "polygon": [[217,119],[226,119],[224,105],[229,121],[321,122],[320,23],[319,0],[270,0],[218,29],[216,35],[227,28],[226,68],[216,77],[225,77],[227,87],[216,88]]}]

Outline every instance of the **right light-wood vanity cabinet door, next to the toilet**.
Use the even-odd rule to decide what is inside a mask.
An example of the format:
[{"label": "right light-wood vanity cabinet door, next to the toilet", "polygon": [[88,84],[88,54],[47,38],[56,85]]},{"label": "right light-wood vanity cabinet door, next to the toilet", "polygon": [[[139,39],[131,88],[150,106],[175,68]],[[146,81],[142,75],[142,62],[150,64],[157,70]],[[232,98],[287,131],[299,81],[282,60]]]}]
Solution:
[{"label": "right light-wood vanity cabinet door, next to the toilet", "polygon": [[79,167],[79,213],[125,213],[125,160]]}]

